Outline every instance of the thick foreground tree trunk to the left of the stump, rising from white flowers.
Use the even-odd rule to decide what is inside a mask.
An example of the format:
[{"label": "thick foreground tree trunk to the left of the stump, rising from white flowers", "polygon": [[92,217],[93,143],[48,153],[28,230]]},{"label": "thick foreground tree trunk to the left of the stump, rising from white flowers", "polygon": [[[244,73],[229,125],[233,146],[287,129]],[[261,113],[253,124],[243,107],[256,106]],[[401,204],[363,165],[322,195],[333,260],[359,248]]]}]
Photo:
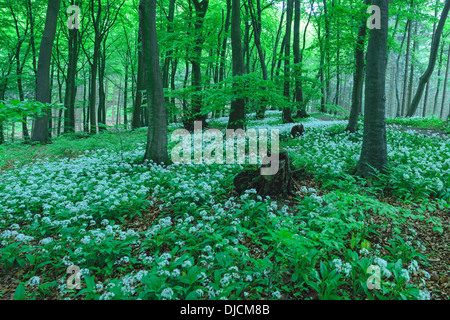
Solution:
[{"label": "thick foreground tree trunk to the left of the stump, rising from white flowers", "polygon": [[167,163],[167,109],[164,101],[164,89],[159,65],[159,48],[156,36],[156,0],[141,0],[143,15],[143,47],[147,72],[147,90],[149,107],[149,126],[144,160],[155,163]]}]

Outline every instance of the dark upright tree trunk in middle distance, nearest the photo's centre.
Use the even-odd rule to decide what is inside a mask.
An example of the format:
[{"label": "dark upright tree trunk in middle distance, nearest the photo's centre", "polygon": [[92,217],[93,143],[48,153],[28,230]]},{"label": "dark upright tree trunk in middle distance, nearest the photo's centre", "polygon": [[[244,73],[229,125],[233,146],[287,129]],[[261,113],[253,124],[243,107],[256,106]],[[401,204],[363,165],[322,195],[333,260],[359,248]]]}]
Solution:
[{"label": "dark upright tree trunk in middle distance, nearest the photo's centre", "polygon": [[[232,0],[231,11],[231,48],[233,62],[233,77],[244,74],[244,55],[241,39],[241,5],[240,0]],[[245,121],[245,99],[240,97],[238,84],[233,84],[236,97],[231,101],[228,129],[243,129]]]}]

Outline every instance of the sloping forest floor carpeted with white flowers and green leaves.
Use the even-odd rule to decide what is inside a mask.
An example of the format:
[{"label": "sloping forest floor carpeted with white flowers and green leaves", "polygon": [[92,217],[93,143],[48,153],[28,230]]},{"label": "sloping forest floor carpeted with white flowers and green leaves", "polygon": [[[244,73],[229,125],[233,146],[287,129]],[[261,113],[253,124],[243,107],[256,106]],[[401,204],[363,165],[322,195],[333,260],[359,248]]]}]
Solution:
[{"label": "sloping forest floor carpeted with white flowers and green leaves", "polygon": [[242,165],[142,165],[145,129],[0,146],[0,299],[448,299],[445,129],[389,119],[390,174],[367,181],[362,126],[319,117],[295,139],[276,111],[248,124],[306,168],[284,199],[237,195]]}]

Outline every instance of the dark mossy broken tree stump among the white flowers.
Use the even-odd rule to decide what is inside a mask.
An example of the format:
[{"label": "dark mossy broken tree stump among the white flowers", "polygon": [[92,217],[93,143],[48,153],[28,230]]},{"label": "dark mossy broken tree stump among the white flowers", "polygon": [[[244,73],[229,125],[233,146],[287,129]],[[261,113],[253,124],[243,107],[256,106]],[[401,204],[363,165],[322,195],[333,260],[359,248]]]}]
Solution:
[{"label": "dark mossy broken tree stump among the white flowers", "polygon": [[299,191],[296,179],[303,178],[305,168],[294,170],[287,152],[279,154],[278,171],[274,175],[261,175],[260,169],[270,167],[262,165],[258,169],[247,168],[238,173],[233,184],[238,194],[255,189],[260,196],[287,196]]}]

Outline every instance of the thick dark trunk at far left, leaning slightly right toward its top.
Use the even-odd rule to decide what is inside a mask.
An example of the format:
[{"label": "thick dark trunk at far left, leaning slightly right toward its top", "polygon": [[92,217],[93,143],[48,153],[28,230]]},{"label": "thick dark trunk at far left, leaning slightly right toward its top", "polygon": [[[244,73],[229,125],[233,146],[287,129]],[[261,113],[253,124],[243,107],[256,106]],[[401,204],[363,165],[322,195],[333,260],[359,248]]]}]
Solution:
[{"label": "thick dark trunk at far left, leaning slightly right toward its top", "polygon": [[[45,18],[44,33],[42,35],[37,76],[37,101],[50,102],[50,61],[52,57],[53,41],[56,34],[58,12],[61,0],[49,0]],[[33,142],[48,142],[48,111],[35,120],[31,140]]]}]

